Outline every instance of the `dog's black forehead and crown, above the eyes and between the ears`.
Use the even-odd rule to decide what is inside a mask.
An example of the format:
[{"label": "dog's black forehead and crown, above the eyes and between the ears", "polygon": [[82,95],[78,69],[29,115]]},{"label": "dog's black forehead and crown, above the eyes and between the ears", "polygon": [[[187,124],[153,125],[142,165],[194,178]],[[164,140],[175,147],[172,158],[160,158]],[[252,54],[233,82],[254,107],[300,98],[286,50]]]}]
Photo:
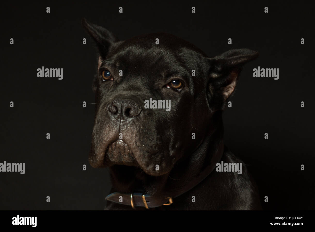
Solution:
[{"label": "dog's black forehead and crown, above the eyes and between the ears", "polygon": [[195,45],[167,33],[136,36],[113,44],[99,67],[122,69],[134,75],[181,75],[191,78],[206,55]]}]

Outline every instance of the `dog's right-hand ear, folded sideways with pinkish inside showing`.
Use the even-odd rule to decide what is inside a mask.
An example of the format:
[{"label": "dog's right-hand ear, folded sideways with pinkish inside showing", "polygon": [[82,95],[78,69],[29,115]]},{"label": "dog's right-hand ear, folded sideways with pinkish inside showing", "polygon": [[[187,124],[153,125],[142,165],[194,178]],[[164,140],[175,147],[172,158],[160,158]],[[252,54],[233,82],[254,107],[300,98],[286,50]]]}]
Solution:
[{"label": "dog's right-hand ear, folded sideways with pinkish inside showing", "polygon": [[258,57],[258,52],[249,49],[232,49],[214,58],[210,62],[209,105],[215,110],[224,110],[227,98],[235,90],[236,82],[243,65]]}]

